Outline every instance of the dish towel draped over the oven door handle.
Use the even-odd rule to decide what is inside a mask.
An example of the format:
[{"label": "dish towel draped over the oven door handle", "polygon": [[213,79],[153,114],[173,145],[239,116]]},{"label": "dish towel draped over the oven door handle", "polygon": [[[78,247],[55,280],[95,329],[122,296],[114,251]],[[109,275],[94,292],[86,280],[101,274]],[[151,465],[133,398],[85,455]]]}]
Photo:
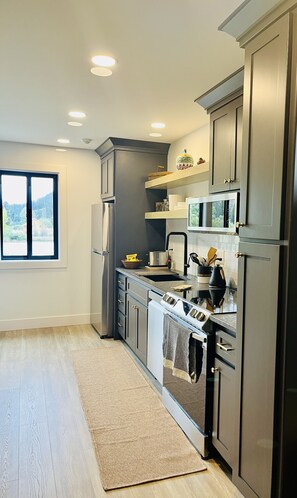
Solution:
[{"label": "dish towel draped over the oven door handle", "polygon": [[201,373],[203,350],[191,336],[190,329],[164,316],[163,365],[175,377],[194,384]]}]

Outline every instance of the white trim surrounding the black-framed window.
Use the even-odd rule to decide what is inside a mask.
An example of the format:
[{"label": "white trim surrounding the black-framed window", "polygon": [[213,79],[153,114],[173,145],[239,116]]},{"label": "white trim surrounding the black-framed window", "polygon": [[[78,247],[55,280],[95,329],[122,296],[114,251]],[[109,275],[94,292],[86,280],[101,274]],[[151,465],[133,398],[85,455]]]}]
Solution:
[{"label": "white trim surrounding the black-framed window", "polygon": [[68,259],[67,248],[67,171],[66,166],[59,165],[44,165],[44,164],[27,164],[19,162],[0,161],[0,169],[12,171],[28,171],[28,172],[41,172],[41,173],[56,173],[58,175],[58,209],[59,209],[59,259],[53,260],[36,260],[36,261],[1,261],[0,270],[32,270],[32,269],[46,269],[46,268],[66,268]]}]

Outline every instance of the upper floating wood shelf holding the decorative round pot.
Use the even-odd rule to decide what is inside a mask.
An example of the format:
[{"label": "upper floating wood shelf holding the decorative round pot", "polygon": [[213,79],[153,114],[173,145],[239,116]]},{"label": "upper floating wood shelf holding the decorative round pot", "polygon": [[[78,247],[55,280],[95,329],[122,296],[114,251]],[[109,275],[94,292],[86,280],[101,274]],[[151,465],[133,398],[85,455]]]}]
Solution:
[{"label": "upper floating wood shelf holding the decorative round pot", "polygon": [[155,180],[145,182],[145,188],[167,189],[182,187],[191,183],[204,182],[208,180],[209,164],[197,164],[187,169],[176,171],[170,175],[161,176]]}]

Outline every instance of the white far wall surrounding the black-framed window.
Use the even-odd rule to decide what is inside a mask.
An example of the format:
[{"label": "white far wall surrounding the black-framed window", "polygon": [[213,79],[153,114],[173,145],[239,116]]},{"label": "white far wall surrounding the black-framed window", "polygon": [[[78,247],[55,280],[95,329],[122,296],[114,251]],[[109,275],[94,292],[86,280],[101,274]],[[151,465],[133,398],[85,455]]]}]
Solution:
[{"label": "white far wall surrounding the black-framed window", "polygon": [[66,170],[66,265],[0,269],[0,330],[89,323],[91,204],[100,198],[100,158],[90,150],[0,142],[0,167]]}]

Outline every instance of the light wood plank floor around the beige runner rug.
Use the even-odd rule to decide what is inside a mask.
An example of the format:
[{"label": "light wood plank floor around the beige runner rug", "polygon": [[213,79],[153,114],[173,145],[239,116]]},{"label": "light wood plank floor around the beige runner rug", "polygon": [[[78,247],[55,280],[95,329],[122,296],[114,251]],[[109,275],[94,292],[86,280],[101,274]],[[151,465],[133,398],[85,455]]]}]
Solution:
[{"label": "light wood plank floor around the beige runner rug", "polygon": [[82,411],[70,351],[112,347],[91,326],[0,332],[0,498],[230,498],[208,470],[105,492]]}]

